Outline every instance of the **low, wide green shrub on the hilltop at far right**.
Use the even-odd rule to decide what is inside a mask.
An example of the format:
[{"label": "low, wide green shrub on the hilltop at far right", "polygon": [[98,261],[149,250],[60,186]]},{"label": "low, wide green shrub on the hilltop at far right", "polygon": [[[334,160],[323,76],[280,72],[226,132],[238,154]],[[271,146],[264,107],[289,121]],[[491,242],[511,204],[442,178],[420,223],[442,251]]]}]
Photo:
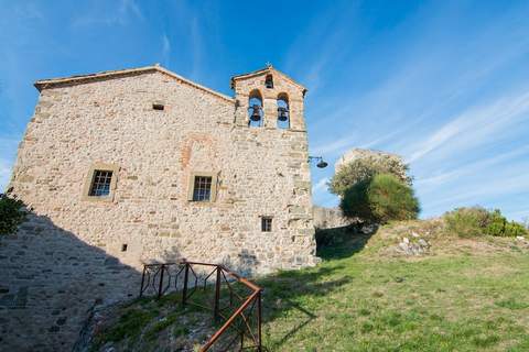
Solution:
[{"label": "low, wide green shrub on the hilltop at far right", "polygon": [[461,238],[478,235],[517,237],[526,235],[527,230],[521,223],[507,221],[496,209],[489,211],[482,207],[457,208],[444,215],[449,231]]}]

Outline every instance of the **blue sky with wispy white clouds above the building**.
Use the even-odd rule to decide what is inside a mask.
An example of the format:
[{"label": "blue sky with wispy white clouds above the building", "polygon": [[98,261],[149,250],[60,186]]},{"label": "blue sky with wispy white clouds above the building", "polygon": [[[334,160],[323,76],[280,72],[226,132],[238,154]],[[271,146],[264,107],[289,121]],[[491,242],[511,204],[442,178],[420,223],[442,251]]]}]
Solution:
[{"label": "blue sky with wispy white clouds above the building", "polygon": [[[250,4],[251,3],[251,4]],[[309,88],[312,155],[401,154],[422,217],[529,217],[527,1],[0,0],[0,188],[40,78],[152,65],[231,95],[271,62]],[[313,169],[315,204],[335,206]]]}]

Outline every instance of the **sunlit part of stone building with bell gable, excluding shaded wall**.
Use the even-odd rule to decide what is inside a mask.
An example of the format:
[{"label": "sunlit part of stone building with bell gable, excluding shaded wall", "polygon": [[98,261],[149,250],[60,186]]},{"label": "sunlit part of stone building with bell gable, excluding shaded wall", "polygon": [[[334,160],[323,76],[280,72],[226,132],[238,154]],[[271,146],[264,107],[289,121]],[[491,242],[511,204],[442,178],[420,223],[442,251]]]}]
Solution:
[{"label": "sunlit part of stone building with bell gable, excluding shaded wall", "polygon": [[131,267],[315,256],[306,89],[273,67],[228,97],[158,65],[35,82],[9,185],[39,217]]}]

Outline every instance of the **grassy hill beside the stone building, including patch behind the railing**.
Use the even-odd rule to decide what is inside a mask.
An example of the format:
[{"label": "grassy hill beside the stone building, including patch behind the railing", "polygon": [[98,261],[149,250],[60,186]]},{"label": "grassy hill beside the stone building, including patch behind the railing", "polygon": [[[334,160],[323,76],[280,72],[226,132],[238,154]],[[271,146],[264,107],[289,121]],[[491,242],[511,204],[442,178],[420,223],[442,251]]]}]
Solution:
[{"label": "grassy hill beside the stone building, including patch behind the railing", "polygon": [[[443,234],[439,226],[414,221],[387,226],[374,235],[349,230],[320,233],[321,242],[327,243],[319,250],[321,265],[259,279],[266,289],[267,349],[528,351],[527,245],[488,237],[460,240]],[[395,250],[411,232],[428,239],[431,249],[425,255]],[[149,305],[153,304],[134,302],[116,312],[117,321],[131,309],[147,314],[117,337],[112,329],[120,323],[122,328],[128,319],[105,328],[100,345],[119,340],[128,341],[129,348],[142,345],[142,351],[177,350],[168,341],[188,337],[182,330],[194,328],[183,327],[181,320],[176,323],[182,318],[174,310],[153,312]],[[171,314],[173,323],[160,318]],[[156,321],[164,323],[153,329]],[[110,344],[127,350],[123,342]]]}]

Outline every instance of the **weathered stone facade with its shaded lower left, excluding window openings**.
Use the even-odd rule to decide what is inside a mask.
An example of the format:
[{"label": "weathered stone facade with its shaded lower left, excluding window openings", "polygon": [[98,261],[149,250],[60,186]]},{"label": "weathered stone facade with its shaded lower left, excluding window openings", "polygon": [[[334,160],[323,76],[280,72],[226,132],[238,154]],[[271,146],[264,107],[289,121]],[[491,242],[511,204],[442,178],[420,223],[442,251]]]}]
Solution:
[{"label": "weathered stone facade with its shaded lower left, excluding window openings", "polygon": [[[317,263],[304,88],[271,67],[231,84],[235,98],[158,66],[35,84],[8,187],[30,213],[0,238],[0,350],[71,350],[90,307],[136,297],[144,262],[244,274]],[[253,89],[261,128],[248,127]],[[287,130],[276,127],[279,94]],[[99,168],[114,172],[107,197],[88,191]],[[194,175],[212,177],[212,201],[190,201]]]}]

